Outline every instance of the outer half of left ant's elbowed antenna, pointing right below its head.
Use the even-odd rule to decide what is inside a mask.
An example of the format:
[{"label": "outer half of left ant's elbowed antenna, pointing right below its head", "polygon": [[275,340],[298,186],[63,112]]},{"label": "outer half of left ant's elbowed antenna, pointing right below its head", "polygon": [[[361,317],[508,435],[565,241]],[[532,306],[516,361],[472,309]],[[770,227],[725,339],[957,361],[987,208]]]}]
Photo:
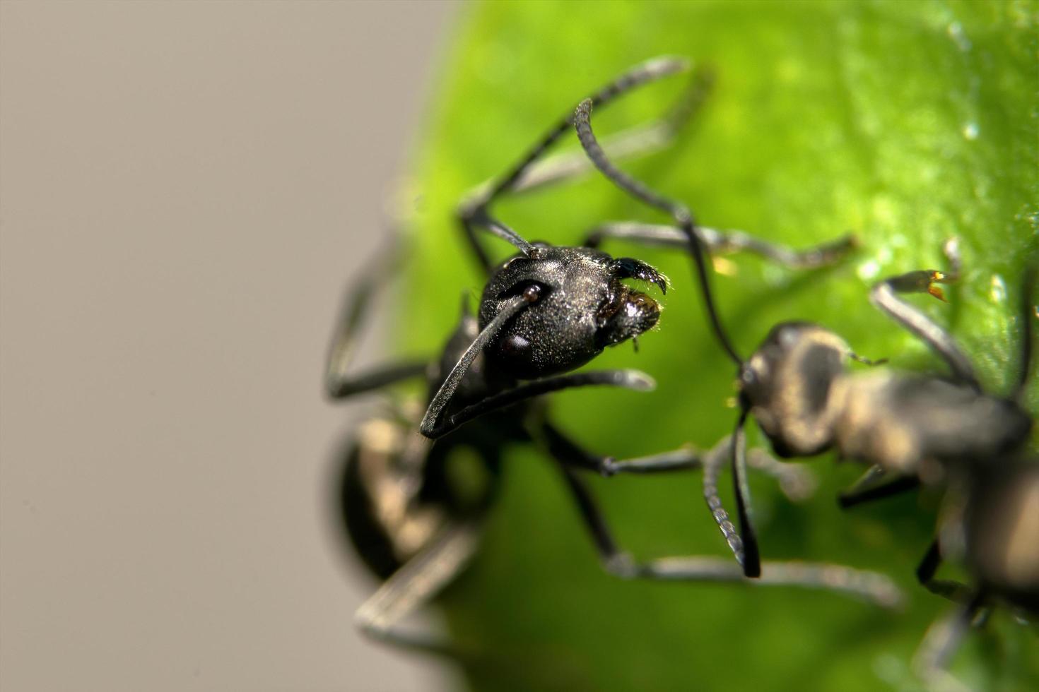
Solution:
[{"label": "outer half of left ant's elbowed antenna, pointing right below its head", "polygon": [[[543,380],[534,380],[526,384],[507,389],[501,393],[488,396],[476,404],[467,406],[460,411],[448,416],[443,422],[436,422],[436,418],[431,417],[432,405],[426,413],[426,418],[422,421],[422,434],[428,438],[436,439],[444,437],[448,433],[456,430],[459,425],[482,416],[491,411],[499,411],[506,407],[517,404],[524,399],[533,398],[561,389],[572,389],[574,387],[588,387],[606,385],[610,387],[622,387],[636,391],[649,391],[657,386],[645,372],[641,370],[592,370],[590,372],[577,372],[575,375],[560,375]],[[442,388],[443,390],[443,388]],[[438,392],[437,392],[438,393]],[[436,414],[438,416],[438,414]],[[426,422],[429,426],[426,427]]]}]

